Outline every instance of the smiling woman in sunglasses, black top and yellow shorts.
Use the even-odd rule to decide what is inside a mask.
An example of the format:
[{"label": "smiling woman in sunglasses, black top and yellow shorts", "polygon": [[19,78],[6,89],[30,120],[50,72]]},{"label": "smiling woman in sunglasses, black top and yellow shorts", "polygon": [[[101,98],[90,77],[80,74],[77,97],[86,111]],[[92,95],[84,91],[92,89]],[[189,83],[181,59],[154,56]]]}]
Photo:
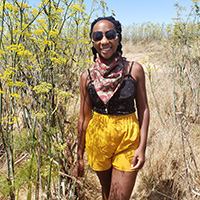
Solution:
[{"label": "smiling woman in sunglasses, black top and yellow shorts", "polygon": [[145,161],[149,125],[145,75],[139,63],[122,57],[119,21],[113,17],[96,19],[90,37],[95,64],[80,79],[75,176],[81,179],[84,175],[86,149],[103,199],[126,200]]}]

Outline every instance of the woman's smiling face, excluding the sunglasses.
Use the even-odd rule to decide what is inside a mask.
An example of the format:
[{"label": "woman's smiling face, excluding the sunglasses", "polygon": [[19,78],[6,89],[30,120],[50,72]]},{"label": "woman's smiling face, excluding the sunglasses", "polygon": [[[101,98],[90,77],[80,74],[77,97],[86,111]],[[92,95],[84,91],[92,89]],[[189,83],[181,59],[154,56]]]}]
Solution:
[{"label": "woman's smiling face, excluding the sunglasses", "polygon": [[94,48],[97,50],[99,55],[103,57],[104,59],[110,59],[112,58],[117,51],[117,46],[119,44],[118,37],[115,37],[114,39],[107,39],[105,33],[109,30],[115,30],[115,26],[112,22],[108,20],[101,20],[98,21],[92,30],[92,36],[93,33],[96,31],[101,31],[103,33],[103,37],[99,41],[92,41]]}]

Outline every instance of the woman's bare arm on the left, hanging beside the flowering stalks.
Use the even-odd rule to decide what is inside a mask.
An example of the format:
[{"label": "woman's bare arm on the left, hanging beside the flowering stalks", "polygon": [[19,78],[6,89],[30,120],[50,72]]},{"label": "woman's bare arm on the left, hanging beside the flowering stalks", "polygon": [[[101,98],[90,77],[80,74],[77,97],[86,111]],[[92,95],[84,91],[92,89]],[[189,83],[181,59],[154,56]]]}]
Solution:
[{"label": "woman's bare arm on the left, hanging beside the flowering stalks", "polygon": [[88,72],[85,71],[80,78],[80,115],[78,119],[78,150],[75,166],[75,176],[81,179],[84,175],[83,154],[85,149],[85,133],[92,117],[92,103],[87,89]]}]

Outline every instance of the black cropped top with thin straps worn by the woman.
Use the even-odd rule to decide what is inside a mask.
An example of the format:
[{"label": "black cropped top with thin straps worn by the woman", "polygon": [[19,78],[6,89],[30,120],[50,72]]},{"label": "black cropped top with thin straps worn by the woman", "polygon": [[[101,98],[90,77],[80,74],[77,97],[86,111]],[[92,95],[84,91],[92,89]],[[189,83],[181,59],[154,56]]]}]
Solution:
[{"label": "black cropped top with thin straps worn by the woman", "polygon": [[92,107],[95,112],[109,115],[126,115],[135,112],[134,99],[136,97],[137,82],[130,74],[132,66],[133,62],[129,73],[124,76],[121,86],[106,105],[99,98],[94,84],[92,83],[93,80],[90,75],[90,70],[88,69],[88,74],[90,77],[88,91],[92,101]]}]

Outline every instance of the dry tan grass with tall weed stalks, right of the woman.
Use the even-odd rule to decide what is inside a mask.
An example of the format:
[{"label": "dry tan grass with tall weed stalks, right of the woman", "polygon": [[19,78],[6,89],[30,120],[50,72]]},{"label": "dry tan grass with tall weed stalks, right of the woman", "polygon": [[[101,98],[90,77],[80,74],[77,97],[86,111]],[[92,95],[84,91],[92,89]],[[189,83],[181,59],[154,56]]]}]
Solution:
[{"label": "dry tan grass with tall weed stalks, right of the woman", "polygon": [[151,111],[147,160],[133,199],[200,199],[199,1],[193,3],[186,19],[176,4],[167,39],[135,38],[124,46],[145,68]]}]

